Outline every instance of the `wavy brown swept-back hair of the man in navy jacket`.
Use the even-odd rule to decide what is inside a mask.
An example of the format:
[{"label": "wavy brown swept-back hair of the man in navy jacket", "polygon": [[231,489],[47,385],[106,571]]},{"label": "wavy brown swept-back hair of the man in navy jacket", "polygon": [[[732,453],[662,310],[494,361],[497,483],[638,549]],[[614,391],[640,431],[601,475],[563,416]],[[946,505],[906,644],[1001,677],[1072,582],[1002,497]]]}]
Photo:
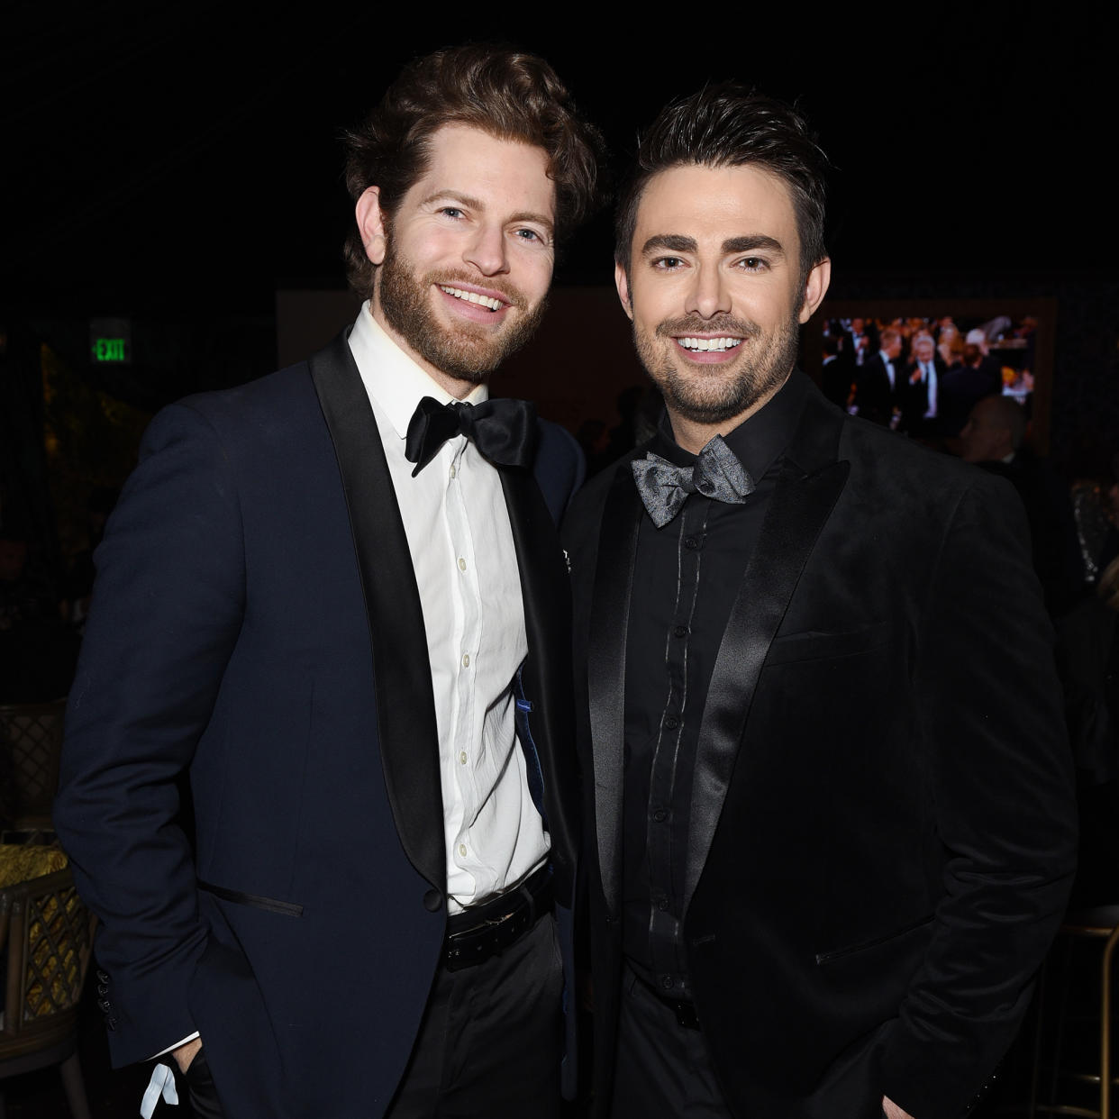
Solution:
[{"label": "wavy brown swept-back hair of the man in navy jacket", "polygon": [[[365,123],[345,133],[346,187],[354,201],[379,187],[380,206],[391,215],[424,173],[431,138],[445,124],[468,124],[547,152],[557,239],[594,211],[603,156],[598,130],[576,115],[571,95],[543,58],[483,43],[414,59]],[[375,270],[356,227],[345,256],[350,286],[368,299]]]}]

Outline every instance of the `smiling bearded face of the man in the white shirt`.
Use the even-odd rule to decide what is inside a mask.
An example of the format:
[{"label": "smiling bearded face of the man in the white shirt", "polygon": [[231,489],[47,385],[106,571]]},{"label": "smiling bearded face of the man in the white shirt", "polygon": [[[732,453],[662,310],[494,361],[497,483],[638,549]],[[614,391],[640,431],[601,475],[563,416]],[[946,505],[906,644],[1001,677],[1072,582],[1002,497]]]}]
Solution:
[{"label": "smiling bearded face of the man in the white shirt", "polygon": [[448,392],[466,396],[532,336],[555,257],[555,189],[540,148],[449,124],[388,215],[370,187],[358,228],[378,265],[373,314]]}]

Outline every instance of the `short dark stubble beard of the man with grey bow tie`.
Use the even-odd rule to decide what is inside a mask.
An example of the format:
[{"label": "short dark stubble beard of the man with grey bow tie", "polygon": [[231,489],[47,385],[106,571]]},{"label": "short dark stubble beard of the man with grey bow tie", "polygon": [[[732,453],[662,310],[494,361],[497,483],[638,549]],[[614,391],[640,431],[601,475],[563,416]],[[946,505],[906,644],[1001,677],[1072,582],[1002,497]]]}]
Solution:
[{"label": "short dark stubble beard of the man with grey bow tie", "polygon": [[[687,359],[673,352],[677,349],[674,336],[709,333],[742,338],[734,358],[725,365],[684,368]],[[638,357],[665,404],[685,420],[702,424],[733,420],[772,396],[797,364],[799,342],[796,314],[770,335],[756,322],[731,316],[667,319],[658,323],[655,337],[633,327]]]}]

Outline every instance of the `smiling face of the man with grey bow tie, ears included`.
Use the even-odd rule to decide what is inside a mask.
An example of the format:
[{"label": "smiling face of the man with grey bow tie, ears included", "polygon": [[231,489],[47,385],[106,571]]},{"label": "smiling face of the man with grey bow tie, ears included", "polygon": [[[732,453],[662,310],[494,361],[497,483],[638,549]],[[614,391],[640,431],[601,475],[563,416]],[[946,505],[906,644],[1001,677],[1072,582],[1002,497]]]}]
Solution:
[{"label": "smiling face of the man with grey bow tie, ears included", "polygon": [[830,272],[820,262],[801,290],[799,253],[788,188],[761,168],[689,164],[649,180],[614,279],[681,446],[725,435],[789,376]]}]

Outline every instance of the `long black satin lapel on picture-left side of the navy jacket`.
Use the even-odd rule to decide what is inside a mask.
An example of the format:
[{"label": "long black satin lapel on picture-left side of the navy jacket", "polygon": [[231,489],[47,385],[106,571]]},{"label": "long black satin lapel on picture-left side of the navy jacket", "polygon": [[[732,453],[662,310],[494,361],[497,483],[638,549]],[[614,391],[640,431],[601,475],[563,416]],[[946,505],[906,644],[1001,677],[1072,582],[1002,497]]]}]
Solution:
[{"label": "long black satin lapel on picture-left side of the navy jacket", "polygon": [[345,336],[310,359],[349,508],[369,618],[388,802],[412,865],[446,886],[439,732],[420,591],[377,421]]}]

